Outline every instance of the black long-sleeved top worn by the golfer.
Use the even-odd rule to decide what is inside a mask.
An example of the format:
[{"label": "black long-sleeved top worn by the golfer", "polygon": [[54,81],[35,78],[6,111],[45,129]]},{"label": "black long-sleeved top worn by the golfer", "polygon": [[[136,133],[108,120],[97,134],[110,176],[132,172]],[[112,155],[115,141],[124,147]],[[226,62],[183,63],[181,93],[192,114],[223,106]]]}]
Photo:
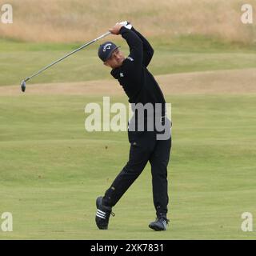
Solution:
[{"label": "black long-sleeved top worn by the golfer", "polygon": [[130,103],[162,103],[162,113],[165,112],[166,101],[162,90],[146,68],[153,57],[153,48],[134,28],[129,30],[122,26],[120,34],[130,47],[130,55],[111,74],[118,79]]}]

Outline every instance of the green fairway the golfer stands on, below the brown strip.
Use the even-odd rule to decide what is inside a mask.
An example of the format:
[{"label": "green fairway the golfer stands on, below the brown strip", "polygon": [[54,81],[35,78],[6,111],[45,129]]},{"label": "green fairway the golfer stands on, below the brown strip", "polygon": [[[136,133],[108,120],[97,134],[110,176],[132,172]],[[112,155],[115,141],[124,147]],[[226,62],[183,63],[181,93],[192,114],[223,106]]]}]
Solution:
[{"label": "green fairway the golfer stands on, below the brown strip", "polygon": [[166,96],[174,122],[171,221],[156,233],[148,228],[149,166],[114,207],[110,230],[94,224],[95,198],[129,150],[125,132],[86,132],[84,107],[101,97],[0,95],[0,214],[14,218],[14,231],[0,230],[0,239],[255,238],[240,227],[243,212],[256,214],[255,100],[255,94]]}]

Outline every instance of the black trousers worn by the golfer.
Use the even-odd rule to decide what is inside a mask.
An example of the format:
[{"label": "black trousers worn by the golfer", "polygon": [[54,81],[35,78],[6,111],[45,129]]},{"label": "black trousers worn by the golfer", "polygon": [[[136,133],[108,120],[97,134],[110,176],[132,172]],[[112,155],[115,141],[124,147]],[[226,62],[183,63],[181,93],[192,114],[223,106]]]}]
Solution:
[{"label": "black trousers worn by the golfer", "polygon": [[129,131],[130,155],[126,166],[114,179],[103,197],[106,206],[115,206],[130,185],[150,162],[154,207],[157,216],[167,213],[168,181],[167,166],[170,159],[171,137],[158,140],[154,131]]}]

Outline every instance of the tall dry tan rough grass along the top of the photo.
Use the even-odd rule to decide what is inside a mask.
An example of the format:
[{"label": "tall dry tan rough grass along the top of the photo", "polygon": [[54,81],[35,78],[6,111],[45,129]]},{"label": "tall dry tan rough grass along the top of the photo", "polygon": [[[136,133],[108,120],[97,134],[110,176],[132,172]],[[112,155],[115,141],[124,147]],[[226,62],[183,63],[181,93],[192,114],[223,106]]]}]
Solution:
[{"label": "tall dry tan rough grass along the top of the photo", "polygon": [[[5,1],[1,0],[0,4]],[[253,43],[255,26],[240,21],[241,0],[10,0],[14,24],[0,23],[2,38],[33,42],[81,42],[115,22],[130,20],[150,37],[201,34]],[[248,0],[254,6],[253,0]]]}]

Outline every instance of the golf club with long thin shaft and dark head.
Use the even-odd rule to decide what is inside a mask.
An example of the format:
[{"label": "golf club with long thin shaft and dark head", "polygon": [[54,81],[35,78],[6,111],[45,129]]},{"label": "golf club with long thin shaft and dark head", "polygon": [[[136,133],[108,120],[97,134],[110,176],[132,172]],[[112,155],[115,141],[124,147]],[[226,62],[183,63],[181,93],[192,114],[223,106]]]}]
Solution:
[{"label": "golf club with long thin shaft and dark head", "polygon": [[63,56],[62,58],[59,58],[57,61],[50,63],[50,65],[42,68],[42,70],[39,70],[38,72],[32,74],[30,77],[25,78],[22,80],[21,83],[21,88],[22,88],[22,92],[25,92],[26,90],[26,82],[29,81],[31,78],[34,78],[35,76],[37,76],[38,74],[41,74],[44,70],[49,69],[51,66],[54,66],[55,64],[57,64],[58,62],[61,62],[63,59],[69,57],[72,54],[75,54],[76,52],[78,52],[78,50],[82,50],[84,49],[86,46],[90,46],[90,44],[97,42],[99,39],[101,38],[105,38],[107,35],[111,34],[110,32],[106,32],[105,34],[102,34],[101,36],[99,36],[98,38],[95,38],[94,40],[87,42],[86,44],[80,46],[78,49],[73,50],[72,52],[70,52],[69,54],[66,54],[65,56]]}]

